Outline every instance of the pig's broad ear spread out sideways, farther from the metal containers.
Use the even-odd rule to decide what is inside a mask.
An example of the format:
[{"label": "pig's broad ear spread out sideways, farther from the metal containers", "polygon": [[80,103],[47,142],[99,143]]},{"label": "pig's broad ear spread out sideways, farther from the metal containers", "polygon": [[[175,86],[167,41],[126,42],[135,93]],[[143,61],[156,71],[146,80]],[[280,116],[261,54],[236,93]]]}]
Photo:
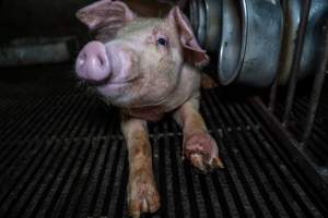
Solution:
[{"label": "pig's broad ear spread out sideways, farther from the metal containers", "polygon": [[121,1],[101,0],[77,12],[77,17],[91,31],[106,27],[116,33],[120,27],[136,17],[136,14]]}]

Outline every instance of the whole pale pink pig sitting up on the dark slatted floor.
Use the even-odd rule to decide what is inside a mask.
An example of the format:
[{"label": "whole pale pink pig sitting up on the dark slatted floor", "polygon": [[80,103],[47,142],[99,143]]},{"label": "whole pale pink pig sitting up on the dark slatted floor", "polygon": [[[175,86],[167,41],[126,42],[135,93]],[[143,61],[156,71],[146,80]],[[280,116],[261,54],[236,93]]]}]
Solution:
[{"label": "whole pale pink pig sitting up on the dark slatted floor", "polygon": [[[94,35],[75,72],[108,105],[120,108],[128,148],[128,213],[160,208],[147,122],[171,112],[181,126],[186,159],[207,172],[223,168],[215,141],[199,113],[200,72],[209,62],[188,19],[174,7],[165,17],[140,17],[121,1],[101,0],[77,12]],[[109,118],[108,118],[109,119]]]}]

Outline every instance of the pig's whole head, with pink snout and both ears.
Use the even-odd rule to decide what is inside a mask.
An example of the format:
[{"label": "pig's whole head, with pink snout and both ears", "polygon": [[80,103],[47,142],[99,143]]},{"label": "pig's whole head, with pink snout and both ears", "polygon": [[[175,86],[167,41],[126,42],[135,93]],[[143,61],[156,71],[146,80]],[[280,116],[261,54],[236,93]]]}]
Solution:
[{"label": "pig's whole head, with pink snout and both ears", "polygon": [[165,19],[143,19],[120,1],[103,0],[77,16],[96,39],[79,53],[77,74],[115,106],[159,106],[181,84],[185,61],[208,61],[178,8]]}]

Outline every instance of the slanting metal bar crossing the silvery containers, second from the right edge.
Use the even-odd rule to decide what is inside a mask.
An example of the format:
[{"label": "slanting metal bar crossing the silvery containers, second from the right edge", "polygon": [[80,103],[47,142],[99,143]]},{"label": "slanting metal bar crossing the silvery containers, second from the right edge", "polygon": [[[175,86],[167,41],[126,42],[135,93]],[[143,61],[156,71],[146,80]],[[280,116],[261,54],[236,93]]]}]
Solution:
[{"label": "slanting metal bar crossing the silvery containers, second from the right edge", "polygon": [[297,40],[296,40],[296,48],[293,59],[293,64],[291,69],[291,80],[289,83],[288,88],[288,97],[286,97],[286,105],[283,113],[283,125],[286,125],[290,112],[292,110],[294,96],[295,96],[295,89],[296,89],[296,83],[297,83],[297,74],[300,71],[300,64],[301,64],[301,58],[302,58],[302,51],[303,51],[303,44],[306,33],[306,25],[307,25],[307,19],[309,14],[309,7],[311,7],[311,0],[304,0],[302,4],[301,10],[301,22],[298,25],[298,32],[297,32]]}]

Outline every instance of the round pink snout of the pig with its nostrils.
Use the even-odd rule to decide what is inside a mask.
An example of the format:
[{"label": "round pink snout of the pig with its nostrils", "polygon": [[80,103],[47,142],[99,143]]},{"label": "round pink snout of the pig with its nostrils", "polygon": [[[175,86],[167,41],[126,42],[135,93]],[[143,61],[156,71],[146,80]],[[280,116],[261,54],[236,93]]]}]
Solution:
[{"label": "round pink snout of the pig with its nostrils", "polygon": [[110,63],[105,45],[91,41],[80,51],[75,71],[80,78],[89,82],[103,82],[110,76]]}]

